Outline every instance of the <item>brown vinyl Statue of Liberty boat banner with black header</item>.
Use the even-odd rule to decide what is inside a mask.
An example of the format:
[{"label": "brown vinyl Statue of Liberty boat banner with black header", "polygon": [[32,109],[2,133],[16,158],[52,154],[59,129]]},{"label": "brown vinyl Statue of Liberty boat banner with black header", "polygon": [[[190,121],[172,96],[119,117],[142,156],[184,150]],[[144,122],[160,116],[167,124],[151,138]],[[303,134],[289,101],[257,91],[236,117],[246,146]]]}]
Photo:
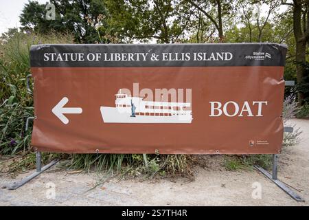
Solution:
[{"label": "brown vinyl Statue of Liberty boat banner with black header", "polygon": [[275,43],[35,45],[32,146],[279,153],[285,56]]}]

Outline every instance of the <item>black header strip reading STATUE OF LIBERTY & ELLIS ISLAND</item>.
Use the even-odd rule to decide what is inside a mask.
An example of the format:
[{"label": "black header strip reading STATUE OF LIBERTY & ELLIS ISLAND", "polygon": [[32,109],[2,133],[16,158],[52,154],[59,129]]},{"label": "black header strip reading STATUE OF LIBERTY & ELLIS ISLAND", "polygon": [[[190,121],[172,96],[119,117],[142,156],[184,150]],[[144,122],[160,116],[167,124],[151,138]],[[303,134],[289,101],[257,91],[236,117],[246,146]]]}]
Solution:
[{"label": "black header strip reading STATUE OF LIBERTY & ELLIS ISLAND", "polygon": [[32,67],[284,66],[277,43],[33,45]]}]

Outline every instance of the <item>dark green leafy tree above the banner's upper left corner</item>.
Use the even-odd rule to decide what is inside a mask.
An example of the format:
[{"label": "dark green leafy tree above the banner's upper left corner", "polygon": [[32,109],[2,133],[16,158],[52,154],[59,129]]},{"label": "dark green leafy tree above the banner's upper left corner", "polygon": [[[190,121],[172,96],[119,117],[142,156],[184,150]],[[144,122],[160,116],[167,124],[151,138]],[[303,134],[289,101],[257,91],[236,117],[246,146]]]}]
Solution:
[{"label": "dark green leafy tree above the banner's upper left corner", "polygon": [[[100,41],[94,27],[100,23],[99,35],[104,35],[106,21],[98,21],[99,14],[107,16],[104,2],[101,0],[51,0],[56,8],[56,19],[45,19],[45,4],[29,1],[20,16],[21,30],[45,34],[50,30],[71,32],[78,43],[95,43]],[[91,22],[89,22],[91,21]]]}]

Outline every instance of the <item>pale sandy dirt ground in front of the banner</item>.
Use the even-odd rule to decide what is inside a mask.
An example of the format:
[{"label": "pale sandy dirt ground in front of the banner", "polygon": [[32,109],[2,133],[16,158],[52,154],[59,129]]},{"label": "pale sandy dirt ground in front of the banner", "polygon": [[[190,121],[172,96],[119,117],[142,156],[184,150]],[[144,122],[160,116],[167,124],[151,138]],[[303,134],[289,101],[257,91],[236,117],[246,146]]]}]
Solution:
[{"label": "pale sandy dirt ground in front of the banner", "polygon": [[[92,190],[100,179],[97,173],[73,174],[56,166],[17,190],[1,188],[0,206],[308,206],[309,120],[291,123],[301,127],[301,142],[279,155],[278,178],[305,202],[295,201],[257,170],[225,170],[218,155],[202,156],[205,164],[194,169],[194,181],[111,179]],[[0,186],[33,171],[16,179],[0,175]]]}]

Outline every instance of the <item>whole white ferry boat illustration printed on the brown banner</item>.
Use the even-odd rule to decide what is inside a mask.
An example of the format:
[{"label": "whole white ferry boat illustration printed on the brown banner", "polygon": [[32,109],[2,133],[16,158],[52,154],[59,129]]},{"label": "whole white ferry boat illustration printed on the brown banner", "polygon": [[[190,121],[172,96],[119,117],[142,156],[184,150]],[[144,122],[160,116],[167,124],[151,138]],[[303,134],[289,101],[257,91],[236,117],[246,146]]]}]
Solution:
[{"label": "whole white ferry boat illustration printed on the brown banner", "polygon": [[115,107],[100,107],[104,123],[191,123],[190,102],[150,102],[116,94]]}]

